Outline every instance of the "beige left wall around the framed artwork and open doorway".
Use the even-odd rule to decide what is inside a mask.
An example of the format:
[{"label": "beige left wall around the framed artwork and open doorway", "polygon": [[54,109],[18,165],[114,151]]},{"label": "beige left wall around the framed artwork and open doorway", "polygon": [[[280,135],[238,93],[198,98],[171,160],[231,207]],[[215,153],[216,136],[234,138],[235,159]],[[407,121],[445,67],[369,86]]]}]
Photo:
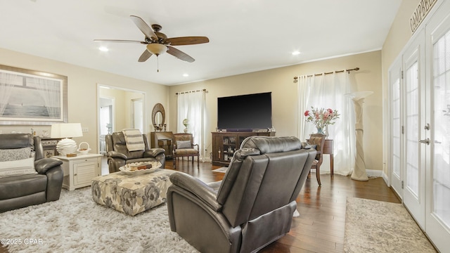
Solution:
[{"label": "beige left wall around the framed artwork and open doorway", "polygon": [[[0,64],[12,67],[20,67],[28,70],[39,70],[61,74],[68,77],[68,121],[80,122],[89,131],[82,137],[75,138],[77,143],[86,141],[94,152],[98,150],[97,132],[97,84],[117,86],[125,89],[143,91],[146,93],[146,132],[150,131],[151,112],[153,105],[162,103],[168,104],[169,88],[160,84],[153,84],[138,79],[123,77],[117,74],[92,70],[86,67],[79,67],[68,63],[61,63],[37,56],[30,56],[24,53],[9,51],[0,48]],[[117,119],[119,120],[119,119]],[[0,126],[0,131],[9,133],[11,131],[30,132],[30,128],[37,131],[49,130],[50,126]]]}]

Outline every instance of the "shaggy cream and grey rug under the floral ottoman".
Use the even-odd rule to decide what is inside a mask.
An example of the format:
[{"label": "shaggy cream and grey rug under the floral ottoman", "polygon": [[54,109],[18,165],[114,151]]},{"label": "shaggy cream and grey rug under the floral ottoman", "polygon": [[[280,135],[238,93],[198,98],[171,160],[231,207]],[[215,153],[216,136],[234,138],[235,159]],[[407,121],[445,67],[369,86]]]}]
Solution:
[{"label": "shaggy cream and grey rug under the floral ottoman", "polygon": [[[97,205],[91,188],[60,200],[0,214],[1,238],[14,252],[198,252],[170,231],[167,205],[136,216]],[[20,244],[18,243],[20,239]]]}]

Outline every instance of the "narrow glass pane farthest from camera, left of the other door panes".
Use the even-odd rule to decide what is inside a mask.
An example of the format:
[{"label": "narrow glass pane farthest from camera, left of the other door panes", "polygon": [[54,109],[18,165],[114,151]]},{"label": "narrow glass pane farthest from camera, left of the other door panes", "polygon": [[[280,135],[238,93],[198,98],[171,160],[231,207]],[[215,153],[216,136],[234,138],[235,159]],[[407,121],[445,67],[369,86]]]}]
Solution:
[{"label": "narrow glass pane farthest from camera, left of the other door panes", "polygon": [[400,79],[397,77],[392,84],[392,171],[400,178]]}]

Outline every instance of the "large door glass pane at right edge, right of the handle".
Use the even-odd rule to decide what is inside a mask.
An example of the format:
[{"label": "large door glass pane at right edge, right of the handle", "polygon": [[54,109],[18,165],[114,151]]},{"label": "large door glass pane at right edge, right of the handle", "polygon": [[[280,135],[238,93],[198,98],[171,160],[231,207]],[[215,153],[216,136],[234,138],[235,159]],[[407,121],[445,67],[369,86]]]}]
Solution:
[{"label": "large door glass pane at right edge, right of the handle", "polygon": [[433,46],[433,211],[450,224],[450,32]]}]

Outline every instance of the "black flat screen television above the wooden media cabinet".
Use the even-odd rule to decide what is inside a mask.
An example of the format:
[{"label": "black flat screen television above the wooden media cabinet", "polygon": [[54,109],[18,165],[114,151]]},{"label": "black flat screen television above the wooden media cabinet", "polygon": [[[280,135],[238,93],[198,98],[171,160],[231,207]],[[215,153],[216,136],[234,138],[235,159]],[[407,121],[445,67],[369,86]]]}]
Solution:
[{"label": "black flat screen television above the wooden media cabinet", "polygon": [[252,131],[271,127],[271,92],[217,98],[217,129]]}]

